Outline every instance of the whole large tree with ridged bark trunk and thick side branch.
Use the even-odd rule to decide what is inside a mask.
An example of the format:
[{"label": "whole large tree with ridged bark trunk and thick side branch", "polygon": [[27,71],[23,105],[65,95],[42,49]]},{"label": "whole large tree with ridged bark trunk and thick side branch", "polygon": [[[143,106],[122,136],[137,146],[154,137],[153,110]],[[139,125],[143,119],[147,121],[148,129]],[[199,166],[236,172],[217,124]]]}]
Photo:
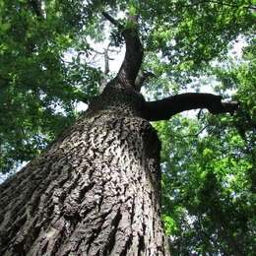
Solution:
[{"label": "whole large tree with ridged bark trunk and thick side branch", "polygon": [[135,83],[144,51],[135,10],[125,23],[102,13],[125,39],[117,76],[75,124],[1,185],[2,254],[169,254],[160,141],[150,121],[193,108],[233,114],[238,101],[210,94],[146,101]]}]

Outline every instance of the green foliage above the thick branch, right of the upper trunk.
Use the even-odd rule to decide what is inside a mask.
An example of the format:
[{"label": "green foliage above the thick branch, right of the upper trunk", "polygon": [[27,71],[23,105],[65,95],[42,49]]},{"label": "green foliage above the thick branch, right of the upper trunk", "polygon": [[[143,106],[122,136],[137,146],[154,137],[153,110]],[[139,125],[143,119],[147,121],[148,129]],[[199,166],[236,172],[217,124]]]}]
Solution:
[{"label": "green foliage above the thick branch, right of the upper trunk", "polygon": [[[148,3],[148,1],[147,1]],[[161,1],[145,4],[142,22],[145,67],[159,78],[165,94],[177,94],[206,72],[210,61],[225,59],[228,43],[255,21],[249,1]],[[150,26],[148,26],[150,25]],[[250,36],[248,34],[248,36]],[[167,81],[166,81],[167,78]],[[156,82],[149,91],[162,96]]]}]

